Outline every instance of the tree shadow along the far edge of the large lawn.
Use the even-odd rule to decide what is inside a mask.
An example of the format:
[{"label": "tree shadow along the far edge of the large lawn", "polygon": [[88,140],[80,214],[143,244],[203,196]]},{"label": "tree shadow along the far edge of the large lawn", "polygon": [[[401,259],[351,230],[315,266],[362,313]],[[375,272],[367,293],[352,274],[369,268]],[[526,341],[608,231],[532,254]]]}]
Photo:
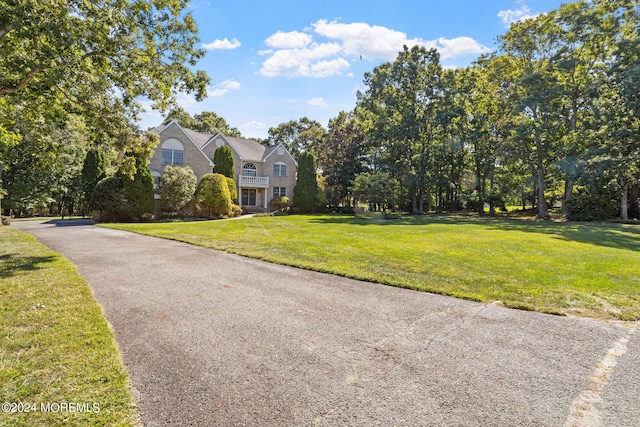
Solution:
[{"label": "tree shadow along the far edge of the large lawn", "polygon": [[382,215],[351,216],[335,215],[313,218],[313,223],[350,224],[358,226],[430,226],[430,225],[474,225],[496,231],[517,231],[555,236],[561,240],[606,246],[615,249],[640,251],[640,227],[616,223],[550,222],[519,218],[492,218],[459,215],[395,216]]}]

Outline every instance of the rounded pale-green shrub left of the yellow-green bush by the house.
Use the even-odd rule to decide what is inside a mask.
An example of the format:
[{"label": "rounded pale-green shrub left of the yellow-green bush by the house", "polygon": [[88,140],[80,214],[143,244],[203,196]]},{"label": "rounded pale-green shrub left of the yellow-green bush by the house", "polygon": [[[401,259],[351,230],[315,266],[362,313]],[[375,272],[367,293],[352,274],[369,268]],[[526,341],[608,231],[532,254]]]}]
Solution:
[{"label": "rounded pale-green shrub left of the yellow-green bush by the house", "polygon": [[165,212],[177,212],[187,205],[196,191],[197,179],[189,166],[167,165],[160,183],[160,201]]}]

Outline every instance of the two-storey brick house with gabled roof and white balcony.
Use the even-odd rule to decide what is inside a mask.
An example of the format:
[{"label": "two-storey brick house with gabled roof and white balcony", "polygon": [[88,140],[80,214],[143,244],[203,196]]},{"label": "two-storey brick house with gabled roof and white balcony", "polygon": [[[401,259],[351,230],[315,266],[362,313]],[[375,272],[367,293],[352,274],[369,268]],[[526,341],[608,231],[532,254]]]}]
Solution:
[{"label": "two-storey brick house with gabled roof and white balcony", "polygon": [[160,182],[166,165],[190,166],[199,183],[205,174],[213,171],[216,149],[226,145],[233,153],[240,206],[248,212],[260,212],[268,210],[274,197],[293,198],[297,163],[282,144],[265,147],[250,139],[195,132],[183,128],[176,120],[152,132],[160,136],[149,163],[155,184]]}]

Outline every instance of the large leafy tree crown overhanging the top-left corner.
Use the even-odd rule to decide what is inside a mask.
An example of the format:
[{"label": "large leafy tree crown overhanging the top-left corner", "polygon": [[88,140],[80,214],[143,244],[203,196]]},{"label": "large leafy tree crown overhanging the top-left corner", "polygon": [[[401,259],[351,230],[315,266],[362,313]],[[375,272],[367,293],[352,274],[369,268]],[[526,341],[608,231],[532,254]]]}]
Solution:
[{"label": "large leafy tree crown overhanging the top-left corner", "polygon": [[[206,96],[208,76],[192,70],[205,51],[197,47],[186,6],[174,0],[3,2],[0,98],[21,111],[47,105],[57,120],[81,114],[92,139],[148,155],[153,138],[131,122],[141,111],[138,99],[164,110],[178,93]],[[21,114],[16,125],[34,121]],[[134,167],[128,160],[123,169],[132,174]]]}]

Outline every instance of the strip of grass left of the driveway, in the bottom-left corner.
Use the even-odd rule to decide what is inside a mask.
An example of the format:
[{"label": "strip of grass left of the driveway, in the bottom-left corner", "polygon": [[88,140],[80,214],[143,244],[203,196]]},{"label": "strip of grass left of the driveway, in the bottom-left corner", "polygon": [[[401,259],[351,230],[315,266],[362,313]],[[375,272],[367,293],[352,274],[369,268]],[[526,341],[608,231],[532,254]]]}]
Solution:
[{"label": "strip of grass left of the driveway, in the bottom-left corner", "polygon": [[71,262],[12,227],[0,227],[0,384],[0,403],[30,410],[3,406],[0,426],[139,424],[90,287]]}]

